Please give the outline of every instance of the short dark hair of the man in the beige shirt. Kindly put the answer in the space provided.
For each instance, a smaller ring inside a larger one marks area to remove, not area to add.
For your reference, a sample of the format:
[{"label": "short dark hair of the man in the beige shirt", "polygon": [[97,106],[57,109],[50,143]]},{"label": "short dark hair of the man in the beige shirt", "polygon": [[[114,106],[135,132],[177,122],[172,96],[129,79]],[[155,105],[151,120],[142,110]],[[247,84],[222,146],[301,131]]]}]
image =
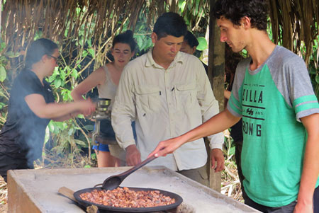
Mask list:
[{"label": "short dark hair of the man in the beige shirt", "polygon": [[154,33],[157,35],[157,40],[172,35],[174,37],[185,36],[187,32],[187,25],[184,18],[177,13],[163,13],[162,16],[157,18],[154,25]]}]

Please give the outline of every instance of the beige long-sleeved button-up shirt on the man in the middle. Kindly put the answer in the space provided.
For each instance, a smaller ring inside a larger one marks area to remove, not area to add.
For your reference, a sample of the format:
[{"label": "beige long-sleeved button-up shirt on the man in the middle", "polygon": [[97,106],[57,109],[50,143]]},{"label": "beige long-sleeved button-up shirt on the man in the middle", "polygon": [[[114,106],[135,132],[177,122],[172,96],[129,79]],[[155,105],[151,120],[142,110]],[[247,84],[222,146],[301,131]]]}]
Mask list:
[{"label": "beige long-sleeved button-up shirt on the man in the middle", "polygon": [[[135,120],[137,147],[141,159],[158,142],[177,137],[219,113],[201,61],[178,52],[168,69],[156,64],[152,50],[129,62],[123,70],[112,109],[112,126],[118,144],[125,149],[135,144],[131,121]],[[208,137],[211,149],[223,146],[223,133]],[[174,171],[205,165],[207,152],[203,139],[183,144],[150,165]]]}]

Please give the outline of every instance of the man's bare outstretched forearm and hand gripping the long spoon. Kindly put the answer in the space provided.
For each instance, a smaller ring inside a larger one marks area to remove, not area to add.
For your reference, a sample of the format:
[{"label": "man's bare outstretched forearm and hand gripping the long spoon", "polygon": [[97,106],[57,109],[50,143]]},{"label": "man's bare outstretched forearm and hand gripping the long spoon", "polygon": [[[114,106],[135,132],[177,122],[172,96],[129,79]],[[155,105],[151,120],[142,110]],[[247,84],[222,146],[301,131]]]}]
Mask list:
[{"label": "man's bare outstretched forearm and hand gripping the long spoon", "polygon": [[186,142],[192,142],[201,137],[206,137],[211,134],[223,132],[225,129],[235,125],[240,120],[240,117],[235,117],[227,109],[217,115],[211,117],[202,125],[192,129],[179,137],[174,137],[166,141],[159,142],[157,147],[149,156],[166,156],[175,151],[179,146]]}]

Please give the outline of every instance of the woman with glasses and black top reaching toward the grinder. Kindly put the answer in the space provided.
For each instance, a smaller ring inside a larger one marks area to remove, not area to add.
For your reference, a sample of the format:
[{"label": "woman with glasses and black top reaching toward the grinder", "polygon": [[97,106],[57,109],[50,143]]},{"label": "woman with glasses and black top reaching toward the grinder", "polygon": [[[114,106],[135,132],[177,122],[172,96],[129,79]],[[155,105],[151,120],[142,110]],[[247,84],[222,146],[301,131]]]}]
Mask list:
[{"label": "woman with glasses and black top reaching toward the grinder", "polygon": [[55,103],[45,81],[57,67],[57,44],[41,38],[31,43],[26,67],[13,82],[8,117],[0,132],[0,175],[6,181],[9,169],[33,168],[42,154],[45,128],[50,120],[62,121],[95,110],[91,100]]}]

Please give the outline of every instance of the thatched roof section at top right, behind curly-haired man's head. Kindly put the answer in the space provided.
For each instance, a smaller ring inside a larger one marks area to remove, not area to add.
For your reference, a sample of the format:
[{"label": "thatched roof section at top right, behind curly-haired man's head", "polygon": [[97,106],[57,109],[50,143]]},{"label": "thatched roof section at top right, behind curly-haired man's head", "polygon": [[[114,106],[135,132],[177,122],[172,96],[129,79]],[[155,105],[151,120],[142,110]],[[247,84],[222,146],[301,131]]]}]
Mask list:
[{"label": "thatched roof section at top right, behind curly-haired man's head", "polygon": [[284,47],[305,54],[308,63],[313,42],[318,40],[319,0],[269,0],[269,3],[274,41],[282,40]]}]

